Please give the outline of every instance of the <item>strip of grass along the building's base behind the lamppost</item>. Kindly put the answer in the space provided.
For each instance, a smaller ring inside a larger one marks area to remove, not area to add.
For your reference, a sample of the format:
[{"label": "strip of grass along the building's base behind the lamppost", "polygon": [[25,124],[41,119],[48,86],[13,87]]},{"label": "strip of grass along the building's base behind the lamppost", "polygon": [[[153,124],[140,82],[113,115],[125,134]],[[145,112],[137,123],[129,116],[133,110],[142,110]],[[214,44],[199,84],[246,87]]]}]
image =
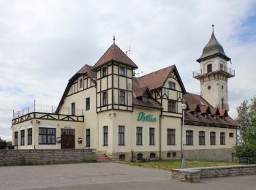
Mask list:
[{"label": "strip of grass along the building's base behind the lamppost", "polygon": [[[131,164],[134,166],[140,167],[154,167],[163,170],[172,170],[181,168],[181,160],[165,160],[165,161],[121,161],[124,164]],[[238,165],[236,162],[225,162],[225,161],[209,161],[209,160],[200,160],[200,159],[188,159],[186,161],[187,167],[214,167],[214,166],[228,166],[228,165]]]}]

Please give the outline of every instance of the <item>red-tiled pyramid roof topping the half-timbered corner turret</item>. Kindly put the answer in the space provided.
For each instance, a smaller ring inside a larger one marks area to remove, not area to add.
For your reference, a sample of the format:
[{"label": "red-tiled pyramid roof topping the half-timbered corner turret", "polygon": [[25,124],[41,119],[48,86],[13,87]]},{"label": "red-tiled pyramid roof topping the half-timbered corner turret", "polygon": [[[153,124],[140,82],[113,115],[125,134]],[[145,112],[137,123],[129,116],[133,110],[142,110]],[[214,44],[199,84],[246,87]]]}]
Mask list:
[{"label": "red-tiled pyramid roof topping the half-timbered corner turret", "polygon": [[106,64],[110,61],[116,61],[121,64],[131,66],[133,69],[137,69],[138,66],[130,59],[115,43],[111,45],[108,50],[103,54],[99,61],[94,64],[93,69],[97,69],[99,66]]}]

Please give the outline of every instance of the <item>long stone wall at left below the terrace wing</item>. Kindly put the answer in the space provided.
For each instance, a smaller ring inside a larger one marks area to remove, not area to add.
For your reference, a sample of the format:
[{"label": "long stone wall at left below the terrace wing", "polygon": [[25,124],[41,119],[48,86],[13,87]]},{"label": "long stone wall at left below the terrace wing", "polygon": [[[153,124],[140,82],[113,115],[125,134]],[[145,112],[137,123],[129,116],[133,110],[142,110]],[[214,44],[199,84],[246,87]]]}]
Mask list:
[{"label": "long stone wall at left below the terrace wing", "polygon": [[0,165],[60,164],[94,161],[88,149],[61,150],[1,150]]}]

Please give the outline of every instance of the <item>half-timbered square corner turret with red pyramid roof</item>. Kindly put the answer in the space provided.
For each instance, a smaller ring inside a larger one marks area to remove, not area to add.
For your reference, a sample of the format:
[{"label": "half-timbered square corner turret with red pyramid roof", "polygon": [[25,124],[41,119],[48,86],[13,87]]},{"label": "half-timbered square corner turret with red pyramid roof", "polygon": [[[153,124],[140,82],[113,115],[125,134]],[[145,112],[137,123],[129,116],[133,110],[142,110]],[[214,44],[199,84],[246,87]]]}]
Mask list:
[{"label": "half-timbered square corner turret with red pyramid roof", "polygon": [[97,112],[132,111],[132,71],[137,68],[114,41],[93,67],[97,81]]}]

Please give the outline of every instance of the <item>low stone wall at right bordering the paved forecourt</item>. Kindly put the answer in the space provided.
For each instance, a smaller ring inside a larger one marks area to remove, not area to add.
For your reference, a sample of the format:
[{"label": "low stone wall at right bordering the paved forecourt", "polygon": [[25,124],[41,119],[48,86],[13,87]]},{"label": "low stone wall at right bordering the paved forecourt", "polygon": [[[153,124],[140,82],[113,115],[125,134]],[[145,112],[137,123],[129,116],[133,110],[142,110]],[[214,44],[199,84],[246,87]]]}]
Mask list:
[{"label": "low stone wall at right bordering the paved forecourt", "polygon": [[217,178],[236,175],[256,175],[256,164],[176,169],[172,170],[171,178],[187,182],[198,182],[202,178]]}]

